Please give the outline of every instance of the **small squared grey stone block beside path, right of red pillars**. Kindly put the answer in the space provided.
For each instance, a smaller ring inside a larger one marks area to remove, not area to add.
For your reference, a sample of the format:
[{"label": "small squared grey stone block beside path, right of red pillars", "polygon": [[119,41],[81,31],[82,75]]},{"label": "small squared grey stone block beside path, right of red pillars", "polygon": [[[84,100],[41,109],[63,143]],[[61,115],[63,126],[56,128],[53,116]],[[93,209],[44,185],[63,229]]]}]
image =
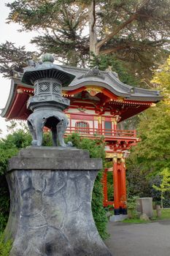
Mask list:
[{"label": "small squared grey stone block beside path, right of red pillars", "polygon": [[137,199],[137,211],[146,214],[147,217],[153,217],[152,197],[141,197]]}]

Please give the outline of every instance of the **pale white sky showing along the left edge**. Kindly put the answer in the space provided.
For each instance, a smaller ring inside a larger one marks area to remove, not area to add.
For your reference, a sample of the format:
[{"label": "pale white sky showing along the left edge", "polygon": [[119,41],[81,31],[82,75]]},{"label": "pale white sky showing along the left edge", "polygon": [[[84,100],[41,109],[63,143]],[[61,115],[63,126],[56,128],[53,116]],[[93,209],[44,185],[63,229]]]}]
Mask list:
[{"label": "pale white sky showing along the left edge", "polygon": [[[20,26],[15,23],[6,23],[6,19],[9,14],[9,8],[5,7],[5,4],[8,2],[12,2],[14,0],[0,0],[0,44],[2,42],[15,42],[16,46],[26,46],[26,50],[36,50],[35,46],[30,44],[31,38],[35,35],[33,32],[18,32],[18,29],[20,29]],[[7,99],[9,96],[9,89],[10,89],[10,79],[2,78],[2,75],[0,74],[0,86],[1,86],[1,93],[0,93],[0,109],[4,108]],[[1,111],[0,111],[1,113]],[[1,137],[4,137],[7,135],[7,127],[8,124],[7,121],[4,120],[4,118],[0,117],[0,129],[2,130]]]}]

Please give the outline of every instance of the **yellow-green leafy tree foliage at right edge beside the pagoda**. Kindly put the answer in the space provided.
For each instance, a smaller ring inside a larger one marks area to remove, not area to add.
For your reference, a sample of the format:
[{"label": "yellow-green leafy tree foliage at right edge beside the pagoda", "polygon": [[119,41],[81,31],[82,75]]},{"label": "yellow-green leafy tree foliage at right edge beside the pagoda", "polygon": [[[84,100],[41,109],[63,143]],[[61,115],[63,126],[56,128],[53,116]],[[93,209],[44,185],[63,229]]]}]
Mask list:
[{"label": "yellow-green leafy tree foliage at right edge beside the pagoda", "polygon": [[128,159],[129,170],[142,172],[147,177],[157,175],[165,168],[170,169],[170,58],[155,73],[152,82],[164,91],[165,97],[155,108],[142,113],[138,127],[142,142]]}]

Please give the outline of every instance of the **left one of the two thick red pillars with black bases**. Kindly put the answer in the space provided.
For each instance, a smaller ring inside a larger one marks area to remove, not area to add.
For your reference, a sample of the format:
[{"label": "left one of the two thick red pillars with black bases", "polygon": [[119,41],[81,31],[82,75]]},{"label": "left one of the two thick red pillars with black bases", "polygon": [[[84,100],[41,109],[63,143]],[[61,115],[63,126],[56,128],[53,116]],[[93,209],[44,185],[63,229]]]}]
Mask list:
[{"label": "left one of the two thick red pillars with black bases", "polygon": [[117,173],[117,155],[113,158],[113,184],[114,184],[114,211],[115,215],[120,214],[119,210],[119,187],[118,187],[118,173]]}]

